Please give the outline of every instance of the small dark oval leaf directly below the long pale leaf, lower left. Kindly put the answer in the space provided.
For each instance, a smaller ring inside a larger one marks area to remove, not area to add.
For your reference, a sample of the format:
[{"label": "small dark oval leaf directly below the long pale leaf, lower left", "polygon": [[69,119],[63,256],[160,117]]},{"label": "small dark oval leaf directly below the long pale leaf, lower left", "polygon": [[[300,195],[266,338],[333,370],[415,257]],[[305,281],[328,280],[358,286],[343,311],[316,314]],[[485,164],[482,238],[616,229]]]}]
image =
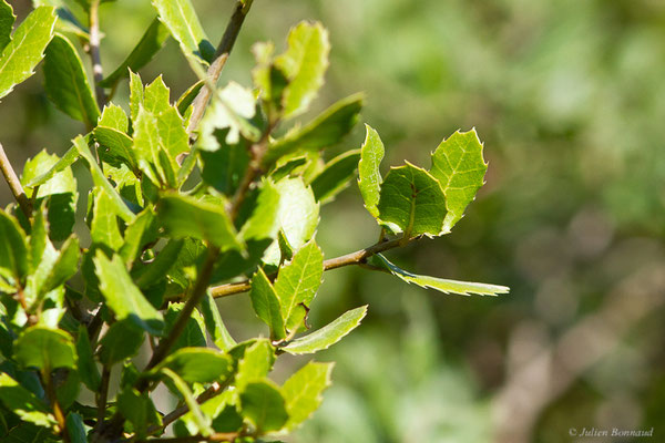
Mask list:
[{"label": "small dark oval leaf directly below the long pale leaf, lower left", "polygon": [[144,340],[143,330],[132,319],[120,320],[111,324],[100,341],[100,361],[106,367],[129,359],[139,353]]}]

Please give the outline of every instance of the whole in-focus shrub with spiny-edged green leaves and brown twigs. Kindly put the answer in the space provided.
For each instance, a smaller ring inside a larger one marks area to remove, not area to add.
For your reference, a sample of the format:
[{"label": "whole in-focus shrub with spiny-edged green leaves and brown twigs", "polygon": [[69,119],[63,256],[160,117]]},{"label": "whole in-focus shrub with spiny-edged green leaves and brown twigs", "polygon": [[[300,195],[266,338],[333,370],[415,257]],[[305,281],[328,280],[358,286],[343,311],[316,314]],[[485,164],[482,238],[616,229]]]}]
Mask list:
[{"label": "whole in-focus shrub with spiny-edged green leaves and brown twigs", "polygon": [[[173,422],[176,436],[201,440],[287,433],[320,404],[332,363],[309,361],[278,385],[269,378],[275,360],[327,349],[367,313],[364,306],[309,326],[325,270],[364,265],[442,292],[507,290],[413,275],[379,254],[450,231],[483,183],[482,145],[474,131],[458,132],[434,151],[429,171],[407,163],[381,178],[385,150],[367,126],[360,148],[328,159],[325,150],[351,131],[364,97],[294,123],[328,68],[321,23],[294,27],[279,54],[273,43],[257,43],[252,87],[217,89],[204,70],[221,59],[190,0],[153,0],[155,21],[127,59],[95,82],[74,44],[92,44],[91,30],[66,2],[54,3],[35,4],[12,33],[11,7],[0,0],[0,97],[43,59],[50,100],[85,127],[63,155],[43,151],[25,164],[29,216],[13,205],[0,210],[3,441],[135,441]],[[99,7],[78,3],[91,17]],[[236,12],[250,6],[239,1]],[[137,73],[168,38],[202,76],[177,99],[161,76],[144,82]],[[129,103],[100,109],[108,99],[95,96],[100,89],[112,95],[125,79]],[[197,106],[206,105],[195,97],[206,90],[212,101],[192,128]],[[94,184],[85,195],[75,163]],[[325,260],[316,243],[320,206],[357,174],[381,240]],[[79,198],[85,214],[76,213]],[[90,240],[80,239],[76,220],[85,222]],[[267,337],[238,343],[214,296],[242,291]],[[146,365],[136,359],[142,349],[151,354]],[[110,389],[112,372],[120,382]],[[170,413],[152,395],[160,384],[178,399]],[[94,405],[80,402],[83,387],[96,393]]]}]

